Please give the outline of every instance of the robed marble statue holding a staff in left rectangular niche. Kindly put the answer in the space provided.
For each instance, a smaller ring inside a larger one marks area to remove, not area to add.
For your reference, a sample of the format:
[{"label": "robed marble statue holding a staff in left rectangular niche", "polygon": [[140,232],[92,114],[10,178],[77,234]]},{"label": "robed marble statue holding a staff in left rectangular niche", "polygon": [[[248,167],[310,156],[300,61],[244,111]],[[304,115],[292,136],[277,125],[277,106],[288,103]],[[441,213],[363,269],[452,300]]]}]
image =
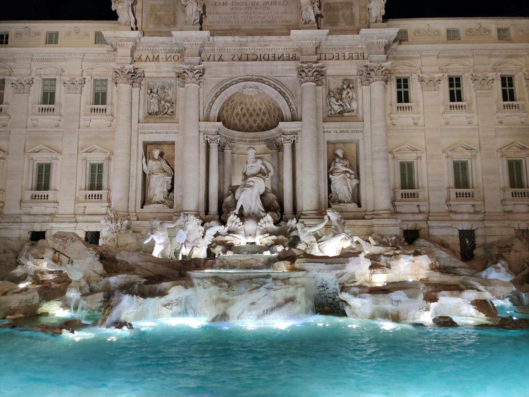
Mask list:
[{"label": "robed marble statue holding a staff in left rectangular niche", "polygon": [[160,152],[160,149],[154,149],[152,151],[154,158],[149,159],[148,163],[145,161],[145,156],[142,159],[143,172],[149,178],[145,204],[165,204],[172,208],[173,202],[169,197],[169,189],[174,173],[167,161],[160,157]]}]

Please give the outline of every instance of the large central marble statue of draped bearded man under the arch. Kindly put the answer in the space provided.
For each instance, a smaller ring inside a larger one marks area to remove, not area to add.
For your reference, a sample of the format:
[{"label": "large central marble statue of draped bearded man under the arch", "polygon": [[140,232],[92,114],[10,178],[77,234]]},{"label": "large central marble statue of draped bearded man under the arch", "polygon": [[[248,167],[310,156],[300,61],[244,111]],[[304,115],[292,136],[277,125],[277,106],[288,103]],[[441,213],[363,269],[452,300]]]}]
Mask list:
[{"label": "large central marble statue of draped bearded man under the arch", "polygon": [[261,194],[265,192],[265,181],[273,174],[273,168],[270,161],[256,157],[256,149],[248,148],[248,160],[242,168],[242,182],[235,192],[237,204],[232,211],[239,214],[242,207],[242,213],[245,218],[261,219],[267,214]]}]

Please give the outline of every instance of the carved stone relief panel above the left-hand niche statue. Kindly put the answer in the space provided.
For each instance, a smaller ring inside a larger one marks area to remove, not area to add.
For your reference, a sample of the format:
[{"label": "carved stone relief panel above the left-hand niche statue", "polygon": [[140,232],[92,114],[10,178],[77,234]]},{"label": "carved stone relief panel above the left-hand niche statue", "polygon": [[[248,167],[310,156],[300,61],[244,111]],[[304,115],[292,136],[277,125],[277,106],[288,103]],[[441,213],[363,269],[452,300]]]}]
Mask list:
[{"label": "carved stone relief panel above the left-hand niche statue", "polygon": [[145,84],[144,117],[174,118],[176,83],[174,80],[148,80]]}]

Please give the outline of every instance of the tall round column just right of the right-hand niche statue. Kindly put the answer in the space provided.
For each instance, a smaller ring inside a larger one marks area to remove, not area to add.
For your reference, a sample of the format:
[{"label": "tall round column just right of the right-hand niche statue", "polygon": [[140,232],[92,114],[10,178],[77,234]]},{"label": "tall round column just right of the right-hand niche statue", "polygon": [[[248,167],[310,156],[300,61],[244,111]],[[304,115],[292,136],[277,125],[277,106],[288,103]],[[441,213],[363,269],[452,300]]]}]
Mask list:
[{"label": "tall round column just right of the right-hand niche statue", "polygon": [[364,70],[359,70],[359,74],[362,84],[369,83],[374,216],[384,218],[392,213],[386,125],[386,84],[389,79],[389,62],[367,64]]}]

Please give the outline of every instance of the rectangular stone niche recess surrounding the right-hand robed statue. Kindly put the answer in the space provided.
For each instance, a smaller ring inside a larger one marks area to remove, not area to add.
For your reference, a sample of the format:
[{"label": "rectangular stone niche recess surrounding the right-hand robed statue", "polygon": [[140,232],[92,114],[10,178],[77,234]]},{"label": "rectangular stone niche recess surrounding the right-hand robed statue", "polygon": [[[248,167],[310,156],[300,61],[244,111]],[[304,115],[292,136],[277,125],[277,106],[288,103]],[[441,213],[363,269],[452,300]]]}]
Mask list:
[{"label": "rectangular stone niche recess surrounding the right-hand robed statue", "polygon": [[329,203],[329,207],[332,209],[335,209],[336,211],[339,211],[340,213],[346,213],[346,212],[355,212],[359,211],[361,207],[360,203],[360,183],[358,183],[354,188],[352,192],[352,203],[331,203],[329,200],[329,194],[331,193],[331,181],[329,179],[329,167],[331,166],[333,160],[334,160],[334,151],[338,148],[343,149],[343,158],[349,160],[349,163],[351,163],[351,167],[354,170],[355,178],[360,179],[362,181],[362,175],[359,175],[358,172],[358,142],[327,142],[327,169],[325,172],[325,175],[327,176],[327,202]]}]

